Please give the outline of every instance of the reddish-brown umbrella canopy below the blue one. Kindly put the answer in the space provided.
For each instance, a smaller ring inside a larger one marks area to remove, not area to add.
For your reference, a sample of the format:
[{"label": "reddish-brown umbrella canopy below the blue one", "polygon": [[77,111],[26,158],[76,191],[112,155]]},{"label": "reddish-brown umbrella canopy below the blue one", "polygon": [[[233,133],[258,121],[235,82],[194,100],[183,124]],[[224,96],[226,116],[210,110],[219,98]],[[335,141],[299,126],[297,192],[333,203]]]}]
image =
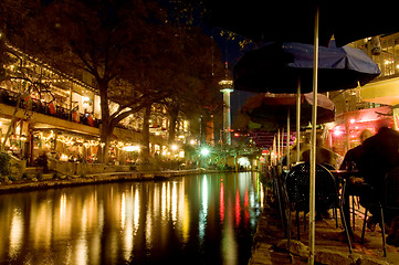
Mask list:
[{"label": "reddish-brown umbrella canopy below the blue one", "polygon": [[[307,126],[312,118],[313,94],[301,95],[301,125]],[[262,93],[250,97],[241,113],[248,115],[253,123],[261,124],[262,129],[275,131],[287,125],[287,113],[296,112],[295,94],[270,94]],[[334,103],[325,95],[317,96],[317,124],[334,121]],[[291,119],[294,121],[293,119]],[[291,125],[293,125],[292,123]]]}]

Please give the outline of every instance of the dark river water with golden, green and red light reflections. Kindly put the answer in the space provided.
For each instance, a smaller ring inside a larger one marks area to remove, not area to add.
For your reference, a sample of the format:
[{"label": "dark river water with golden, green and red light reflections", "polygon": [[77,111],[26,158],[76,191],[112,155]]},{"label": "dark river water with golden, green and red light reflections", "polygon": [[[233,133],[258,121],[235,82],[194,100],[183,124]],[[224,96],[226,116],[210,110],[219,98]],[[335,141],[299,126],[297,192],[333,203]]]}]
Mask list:
[{"label": "dark river water with golden, green and red light reflections", "polygon": [[0,195],[0,264],[248,264],[255,173]]}]

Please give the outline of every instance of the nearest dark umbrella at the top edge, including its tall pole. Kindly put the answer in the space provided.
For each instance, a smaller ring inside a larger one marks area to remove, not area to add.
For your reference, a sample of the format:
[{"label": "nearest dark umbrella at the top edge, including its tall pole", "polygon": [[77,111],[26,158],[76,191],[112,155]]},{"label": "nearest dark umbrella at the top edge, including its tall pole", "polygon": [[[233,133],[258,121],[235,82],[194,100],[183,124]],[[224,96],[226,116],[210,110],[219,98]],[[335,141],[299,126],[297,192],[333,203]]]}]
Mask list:
[{"label": "nearest dark umbrella at the top edge, including its tall pole", "polygon": [[[387,7],[395,1],[385,2]],[[399,31],[395,9],[377,10],[374,4],[357,1],[260,1],[232,2],[206,0],[211,24],[223,26],[239,34],[258,40],[297,41],[314,44],[313,94],[317,100],[318,43],[327,45],[334,34],[338,44],[361,38]],[[321,15],[322,20],[321,20]],[[348,21],[350,21],[348,23]],[[219,24],[218,24],[219,22]],[[322,33],[318,28],[322,25]],[[254,36],[251,36],[254,35]],[[313,38],[312,38],[313,35]],[[313,125],[316,123],[316,104],[313,105]],[[311,191],[309,191],[309,264],[314,264],[315,250],[315,177],[316,128],[311,137]]]}]

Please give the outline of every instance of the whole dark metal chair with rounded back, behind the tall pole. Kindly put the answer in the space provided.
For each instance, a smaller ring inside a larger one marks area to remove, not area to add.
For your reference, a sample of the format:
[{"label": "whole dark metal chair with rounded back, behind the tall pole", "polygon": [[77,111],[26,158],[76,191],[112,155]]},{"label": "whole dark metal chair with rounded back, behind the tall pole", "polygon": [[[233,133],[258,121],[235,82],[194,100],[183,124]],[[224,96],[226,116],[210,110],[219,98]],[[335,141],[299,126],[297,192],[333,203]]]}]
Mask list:
[{"label": "whole dark metal chair with rounded back, behind the tall pole", "polygon": [[[309,176],[311,165],[300,163],[291,169],[285,179],[285,194],[288,202],[287,237],[288,250],[291,244],[292,211],[296,213],[297,240],[300,236],[300,212],[304,212],[304,229],[306,213],[309,206]],[[322,165],[316,166],[316,210],[339,209],[342,222],[347,236],[348,248],[351,253],[351,244],[344,218],[343,204],[339,199],[334,176]],[[337,218],[336,218],[337,221]]]}]

